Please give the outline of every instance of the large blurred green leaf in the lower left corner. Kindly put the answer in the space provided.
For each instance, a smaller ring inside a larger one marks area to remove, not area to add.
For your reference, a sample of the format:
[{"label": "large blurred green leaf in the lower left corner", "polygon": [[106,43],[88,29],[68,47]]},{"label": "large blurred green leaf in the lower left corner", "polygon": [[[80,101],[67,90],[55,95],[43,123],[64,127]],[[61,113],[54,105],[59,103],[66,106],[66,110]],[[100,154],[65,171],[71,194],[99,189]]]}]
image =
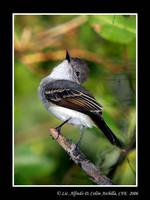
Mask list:
[{"label": "large blurred green leaf in the lower left corner", "polygon": [[37,156],[32,152],[22,152],[15,155],[16,184],[36,184],[40,179],[54,173],[56,162],[54,159]]}]

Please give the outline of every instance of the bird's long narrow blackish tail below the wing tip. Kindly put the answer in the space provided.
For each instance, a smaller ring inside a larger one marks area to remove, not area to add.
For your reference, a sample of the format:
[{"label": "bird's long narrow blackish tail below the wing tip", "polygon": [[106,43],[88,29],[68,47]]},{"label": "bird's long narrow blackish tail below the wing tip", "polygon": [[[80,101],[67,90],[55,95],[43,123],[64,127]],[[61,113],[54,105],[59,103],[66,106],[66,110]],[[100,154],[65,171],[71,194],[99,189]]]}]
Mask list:
[{"label": "bird's long narrow blackish tail below the wing tip", "polygon": [[98,128],[104,133],[104,135],[108,138],[111,144],[118,146],[119,148],[123,148],[123,143],[115,136],[112,130],[108,127],[103,117],[97,113],[92,114],[91,119],[95,122]]}]

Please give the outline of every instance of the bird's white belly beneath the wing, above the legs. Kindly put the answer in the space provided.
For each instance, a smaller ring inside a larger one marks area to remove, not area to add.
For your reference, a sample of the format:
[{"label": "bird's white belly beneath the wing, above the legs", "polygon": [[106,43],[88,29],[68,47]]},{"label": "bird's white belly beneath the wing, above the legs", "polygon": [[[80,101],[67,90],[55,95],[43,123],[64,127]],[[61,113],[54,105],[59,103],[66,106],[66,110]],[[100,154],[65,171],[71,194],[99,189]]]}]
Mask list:
[{"label": "bird's white belly beneath the wing, above the legs", "polygon": [[68,123],[76,126],[84,126],[91,128],[93,126],[93,121],[88,115],[74,111],[68,108],[60,107],[54,104],[51,104],[48,110],[53,113],[58,119],[65,121],[71,118]]}]

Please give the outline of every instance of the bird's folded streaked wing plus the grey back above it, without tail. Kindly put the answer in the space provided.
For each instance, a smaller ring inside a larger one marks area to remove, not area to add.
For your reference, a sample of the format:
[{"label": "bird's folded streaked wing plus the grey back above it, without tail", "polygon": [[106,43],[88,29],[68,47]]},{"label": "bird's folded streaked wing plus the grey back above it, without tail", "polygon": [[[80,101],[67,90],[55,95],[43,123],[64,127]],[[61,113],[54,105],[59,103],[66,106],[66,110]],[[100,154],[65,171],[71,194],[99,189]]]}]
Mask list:
[{"label": "bird's folded streaked wing plus the grey back above it, without tail", "polygon": [[96,102],[95,98],[83,87],[73,82],[58,84],[57,81],[56,84],[49,84],[45,87],[44,95],[49,102],[85,114],[102,112],[102,106]]}]

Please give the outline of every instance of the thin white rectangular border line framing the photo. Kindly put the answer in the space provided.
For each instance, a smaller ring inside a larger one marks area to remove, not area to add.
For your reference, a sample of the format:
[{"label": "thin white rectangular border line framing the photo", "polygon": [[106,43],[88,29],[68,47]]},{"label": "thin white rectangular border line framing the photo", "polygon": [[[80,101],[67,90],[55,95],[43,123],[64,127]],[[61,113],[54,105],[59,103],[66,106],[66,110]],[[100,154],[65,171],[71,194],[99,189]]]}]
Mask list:
[{"label": "thin white rectangular border line framing the photo", "polygon": [[[135,15],[136,16],[136,185],[15,185],[14,184],[14,16],[15,15]],[[137,13],[13,13],[12,14],[12,61],[13,61],[13,74],[12,74],[12,89],[13,89],[13,131],[12,131],[12,186],[13,187],[137,187],[138,186],[138,126],[137,126],[137,113],[138,113],[138,14]]]}]

